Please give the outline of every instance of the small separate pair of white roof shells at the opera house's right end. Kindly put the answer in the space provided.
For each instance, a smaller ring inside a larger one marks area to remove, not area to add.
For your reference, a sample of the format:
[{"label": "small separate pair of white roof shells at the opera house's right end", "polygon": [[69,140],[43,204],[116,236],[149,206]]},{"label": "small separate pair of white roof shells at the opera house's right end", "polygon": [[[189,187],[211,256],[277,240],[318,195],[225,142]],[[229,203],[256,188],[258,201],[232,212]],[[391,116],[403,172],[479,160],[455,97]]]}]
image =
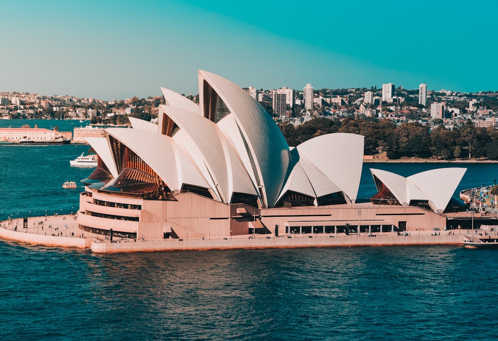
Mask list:
[{"label": "small separate pair of white roof shells at the opera house's right end", "polygon": [[431,169],[405,178],[384,170],[370,169],[373,177],[383,183],[400,204],[427,200],[437,212],[446,209],[466,170],[456,167]]}]

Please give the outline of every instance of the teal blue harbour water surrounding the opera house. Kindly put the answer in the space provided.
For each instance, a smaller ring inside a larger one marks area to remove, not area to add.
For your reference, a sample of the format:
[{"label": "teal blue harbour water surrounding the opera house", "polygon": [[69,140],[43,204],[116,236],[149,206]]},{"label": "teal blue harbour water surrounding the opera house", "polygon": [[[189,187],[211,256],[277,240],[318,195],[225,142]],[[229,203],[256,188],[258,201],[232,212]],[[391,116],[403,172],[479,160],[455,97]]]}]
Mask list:
[{"label": "teal blue harbour water surrounding the opera house", "polygon": [[[82,189],[61,186],[90,174],[69,166],[88,148],[0,145],[0,219],[74,211]],[[359,197],[375,193],[368,168],[439,166],[366,164]],[[458,191],[498,174],[464,166]],[[459,246],[97,255],[1,241],[0,340],[496,340],[497,258]]]}]

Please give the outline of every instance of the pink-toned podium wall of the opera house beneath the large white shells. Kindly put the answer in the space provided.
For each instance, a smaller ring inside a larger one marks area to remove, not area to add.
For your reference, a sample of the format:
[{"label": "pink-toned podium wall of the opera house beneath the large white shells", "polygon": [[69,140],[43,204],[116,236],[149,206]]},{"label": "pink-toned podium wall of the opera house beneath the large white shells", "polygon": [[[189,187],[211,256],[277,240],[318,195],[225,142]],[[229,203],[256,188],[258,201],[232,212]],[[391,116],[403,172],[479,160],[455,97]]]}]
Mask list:
[{"label": "pink-toned podium wall of the opera house beneath the large white shells", "polygon": [[[92,199],[141,205],[142,210],[105,207],[92,204]],[[103,219],[85,214],[85,211],[116,216],[139,216],[139,222]],[[102,229],[136,232],[137,238],[143,234],[145,239],[163,239],[164,232],[172,228],[182,239],[227,237],[249,233],[254,216],[272,233],[275,225],[279,234],[285,234],[289,222],[331,222],[344,226],[344,222],[355,227],[370,221],[372,225],[394,225],[406,222],[407,231],[444,230],[446,217],[427,210],[410,206],[377,206],[373,204],[333,205],[327,207],[254,209],[246,205],[226,205],[193,193],[180,193],[175,201],[147,201],[134,198],[109,196],[93,193],[93,198],[80,196],[78,223]],[[375,224],[374,224],[375,223]],[[378,223],[378,224],[377,224]],[[320,223],[317,223],[320,225]],[[323,225],[323,224],[322,224]]]}]

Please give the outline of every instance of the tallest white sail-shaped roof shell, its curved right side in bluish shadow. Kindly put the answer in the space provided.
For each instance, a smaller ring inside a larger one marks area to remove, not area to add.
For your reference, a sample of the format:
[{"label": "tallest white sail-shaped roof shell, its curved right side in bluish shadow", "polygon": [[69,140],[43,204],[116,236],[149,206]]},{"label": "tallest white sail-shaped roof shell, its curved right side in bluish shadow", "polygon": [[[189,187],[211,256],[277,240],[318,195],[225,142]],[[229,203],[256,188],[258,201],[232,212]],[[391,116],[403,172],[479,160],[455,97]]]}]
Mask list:
[{"label": "tallest white sail-shaped roof shell, its curved right side in bluish shadow", "polygon": [[[245,148],[237,149],[237,152],[248,154],[247,157],[241,156],[241,160],[246,169],[255,173],[254,187],[261,187],[265,206],[273,206],[289,168],[290,151],[285,138],[270,115],[242,88],[218,75],[199,70],[201,108],[208,109],[205,108],[208,99],[204,97],[207,85],[216,92],[234,116],[245,144]],[[231,139],[230,132],[225,131],[224,126],[220,128]],[[250,164],[245,162],[248,158],[252,160]]]}]

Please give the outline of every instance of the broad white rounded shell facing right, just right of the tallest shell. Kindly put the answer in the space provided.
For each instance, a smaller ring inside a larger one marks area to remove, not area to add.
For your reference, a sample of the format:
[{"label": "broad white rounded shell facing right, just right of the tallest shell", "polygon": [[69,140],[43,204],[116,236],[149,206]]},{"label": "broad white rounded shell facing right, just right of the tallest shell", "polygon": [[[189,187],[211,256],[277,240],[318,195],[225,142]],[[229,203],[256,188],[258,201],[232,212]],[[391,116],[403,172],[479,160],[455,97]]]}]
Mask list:
[{"label": "broad white rounded shell facing right, just right of the tallest shell", "polygon": [[355,202],[362,176],[363,146],[362,135],[334,133],[314,137],[296,149],[300,157],[305,157]]}]

